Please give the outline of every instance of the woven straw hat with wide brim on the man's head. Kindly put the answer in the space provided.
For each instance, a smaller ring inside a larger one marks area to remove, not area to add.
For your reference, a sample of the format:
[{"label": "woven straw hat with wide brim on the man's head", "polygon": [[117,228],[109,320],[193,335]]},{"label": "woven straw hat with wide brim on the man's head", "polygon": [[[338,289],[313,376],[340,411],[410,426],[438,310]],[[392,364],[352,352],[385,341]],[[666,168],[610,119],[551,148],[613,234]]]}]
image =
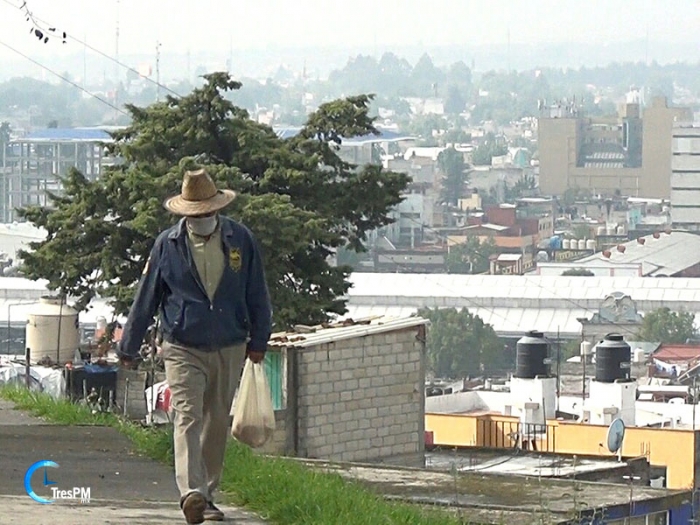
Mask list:
[{"label": "woven straw hat with wide brim on the man's head", "polygon": [[186,172],[180,195],[169,197],[163,205],[177,215],[191,217],[218,211],[234,198],[235,191],[217,189],[209,174],[200,169]]}]

